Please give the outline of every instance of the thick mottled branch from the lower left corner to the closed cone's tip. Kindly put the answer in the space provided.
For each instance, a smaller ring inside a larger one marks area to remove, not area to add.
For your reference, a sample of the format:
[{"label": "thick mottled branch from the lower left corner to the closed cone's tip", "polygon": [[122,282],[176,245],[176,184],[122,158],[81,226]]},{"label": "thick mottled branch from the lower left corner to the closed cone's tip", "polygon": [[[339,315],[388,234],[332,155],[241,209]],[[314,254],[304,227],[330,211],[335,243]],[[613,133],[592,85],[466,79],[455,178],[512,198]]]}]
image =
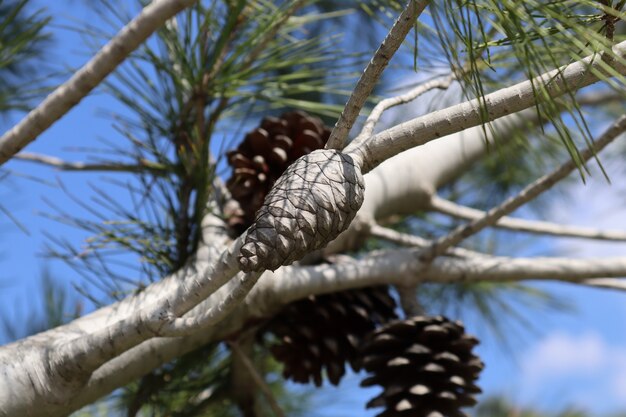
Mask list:
[{"label": "thick mottled branch from the lower left corner to the closed cone's tip", "polygon": [[[42,349],[37,342],[32,344],[33,341],[26,339],[22,347],[24,354],[32,352],[35,357],[29,359],[28,370],[16,376],[24,380],[0,378],[0,404],[7,404],[0,407],[0,416],[32,412],[27,401],[10,401],[17,393],[24,395],[23,390],[29,391],[29,396],[37,398],[39,403],[68,402],[84,389],[96,369],[160,335],[161,328],[189,310],[192,316],[200,314],[197,305],[238,272],[236,258],[240,246],[238,239],[226,250],[220,250],[223,246],[216,242],[212,262],[209,258],[208,263],[197,266],[192,263],[135,297],[75,320],[72,325],[46,332],[57,336],[52,348]],[[219,313],[226,310],[224,305],[221,307]],[[219,318],[224,316],[219,314]],[[8,375],[15,364],[3,352],[0,349],[0,374]],[[37,377],[38,384],[28,382],[41,372],[45,377]]]}]

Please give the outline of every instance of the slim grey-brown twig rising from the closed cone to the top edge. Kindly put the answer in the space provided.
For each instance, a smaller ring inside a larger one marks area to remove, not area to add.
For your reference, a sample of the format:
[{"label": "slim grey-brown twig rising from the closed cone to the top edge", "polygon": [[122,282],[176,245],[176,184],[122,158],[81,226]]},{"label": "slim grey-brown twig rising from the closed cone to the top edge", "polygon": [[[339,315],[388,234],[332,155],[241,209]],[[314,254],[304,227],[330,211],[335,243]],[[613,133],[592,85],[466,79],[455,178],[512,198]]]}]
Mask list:
[{"label": "slim grey-brown twig rising from the closed cone to the top edge", "polygon": [[335,124],[333,131],[326,143],[326,149],[343,149],[344,143],[354,125],[365,100],[370,96],[374,87],[378,83],[384,69],[389,64],[391,57],[396,53],[404,38],[413,27],[415,20],[422,13],[428,4],[428,0],[410,0],[406,8],[398,17],[393,27],[381,43],[380,47],[372,57],[365,71],[359,78],[354,91],[350,95],[339,120]]}]

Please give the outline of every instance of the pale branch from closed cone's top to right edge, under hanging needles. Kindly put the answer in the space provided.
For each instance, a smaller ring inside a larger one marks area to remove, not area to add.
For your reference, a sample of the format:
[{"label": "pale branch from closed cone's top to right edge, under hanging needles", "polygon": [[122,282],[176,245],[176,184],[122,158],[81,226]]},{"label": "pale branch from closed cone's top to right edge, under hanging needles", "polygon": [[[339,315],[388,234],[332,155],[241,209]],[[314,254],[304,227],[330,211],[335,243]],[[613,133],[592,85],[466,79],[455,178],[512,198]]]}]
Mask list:
[{"label": "pale branch from closed cone's top to right edge, under hanging needles", "polygon": [[369,172],[382,161],[402,151],[536,105],[539,85],[543,86],[550,97],[558,97],[599,81],[600,74],[610,76],[607,65],[626,75],[625,57],[626,41],[615,45],[614,59],[610,60],[610,64],[599,55],[591,55],[542,74],[532,81],[524,81],[487,94],[480,100],[470,100],[401,123],[360,145],[349,144],[344,152],[355,160],[362,161],[363,173]]}]

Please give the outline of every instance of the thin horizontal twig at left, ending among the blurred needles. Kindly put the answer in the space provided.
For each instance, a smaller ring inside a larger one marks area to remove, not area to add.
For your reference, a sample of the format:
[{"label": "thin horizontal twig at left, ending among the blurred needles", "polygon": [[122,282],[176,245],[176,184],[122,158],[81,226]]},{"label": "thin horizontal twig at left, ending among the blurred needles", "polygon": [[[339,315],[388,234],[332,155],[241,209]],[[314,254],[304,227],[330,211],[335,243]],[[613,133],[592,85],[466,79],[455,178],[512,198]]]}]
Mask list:
[{"label": "thin horizontal twig at left, ending among the blurred needles", "polygon": [[148,161],[147,159],[140,159],[134,164],[121,164],[116,162],[101,162],[101,163],[87,163],[87,162],[69,162],[55,156],[20,152],[14,156],[14,159],[24,162],[35,162],[38,164],[48,165],[63,171],[108,171],[108,172],[146,172],[154,171],[157,173],[165,174],[167,169],[164,165]]}]

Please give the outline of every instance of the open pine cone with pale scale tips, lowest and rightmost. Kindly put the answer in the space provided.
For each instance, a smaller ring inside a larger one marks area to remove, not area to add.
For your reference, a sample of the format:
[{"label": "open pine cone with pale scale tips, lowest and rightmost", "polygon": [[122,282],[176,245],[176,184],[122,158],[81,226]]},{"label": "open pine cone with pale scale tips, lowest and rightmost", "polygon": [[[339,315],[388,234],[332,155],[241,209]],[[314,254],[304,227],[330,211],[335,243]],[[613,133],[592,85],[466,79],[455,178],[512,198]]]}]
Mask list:
[{"label": "open pine cone with pale scale tips, lowest and rightmost", "polygon": [[478,340],[460,322],[438,317],[398,320],[374,331],[362,350],[373,375],[361,386],[384,391],[367,408],[386,407],[377,417],[466,417],[476,404],[474,384],[484,365],[472,353]]}]

